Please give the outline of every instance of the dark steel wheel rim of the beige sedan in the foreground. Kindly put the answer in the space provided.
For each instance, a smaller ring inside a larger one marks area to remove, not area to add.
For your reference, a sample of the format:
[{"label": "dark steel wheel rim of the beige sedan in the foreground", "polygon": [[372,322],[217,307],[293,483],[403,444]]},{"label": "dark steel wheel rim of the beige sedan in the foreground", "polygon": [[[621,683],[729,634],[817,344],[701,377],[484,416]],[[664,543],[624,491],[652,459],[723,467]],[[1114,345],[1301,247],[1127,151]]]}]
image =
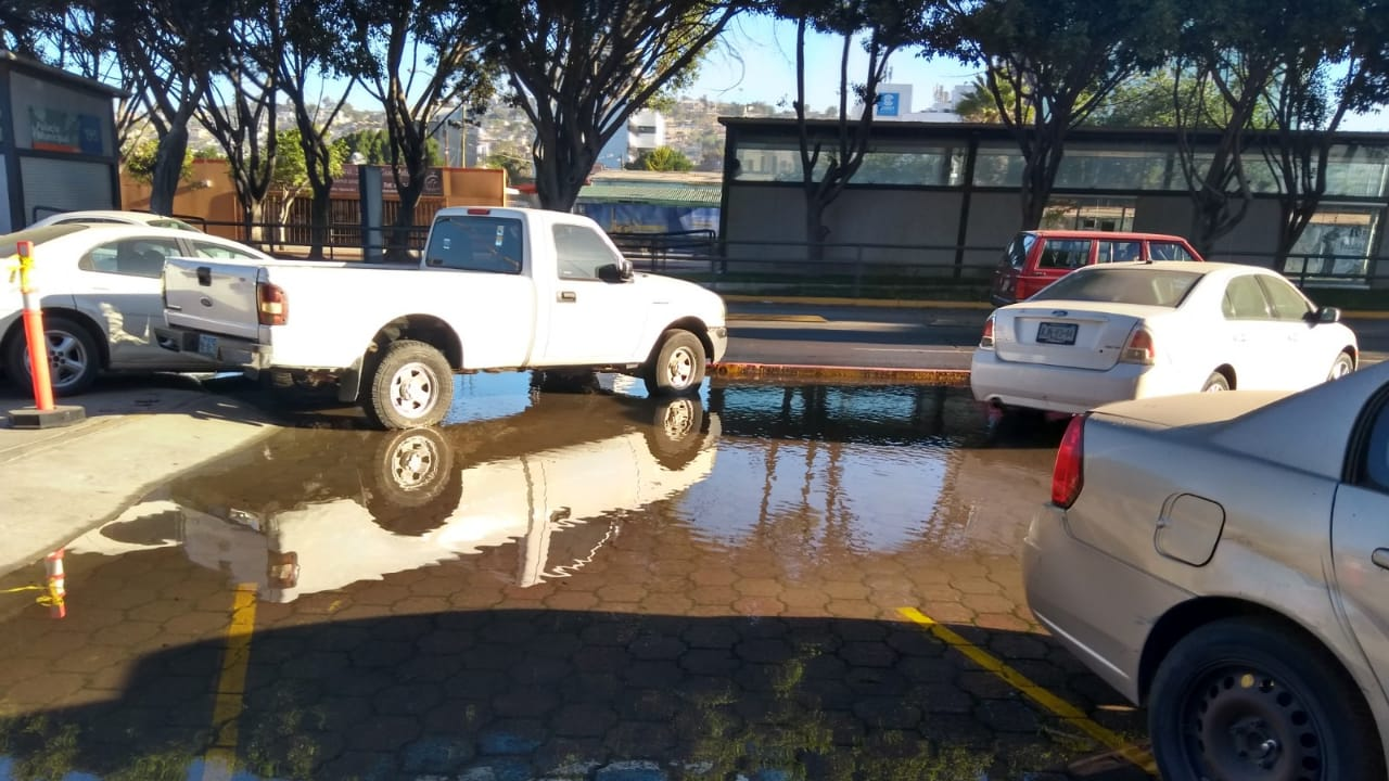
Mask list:
[{"label": "dark steel wheel rim of the beige sedan in the foreground", "polygon": [[1267,673],[1226,668],[1186,698],[1186,745],[1199,778],[1325,778],[1318,725],[1301,698]]}]

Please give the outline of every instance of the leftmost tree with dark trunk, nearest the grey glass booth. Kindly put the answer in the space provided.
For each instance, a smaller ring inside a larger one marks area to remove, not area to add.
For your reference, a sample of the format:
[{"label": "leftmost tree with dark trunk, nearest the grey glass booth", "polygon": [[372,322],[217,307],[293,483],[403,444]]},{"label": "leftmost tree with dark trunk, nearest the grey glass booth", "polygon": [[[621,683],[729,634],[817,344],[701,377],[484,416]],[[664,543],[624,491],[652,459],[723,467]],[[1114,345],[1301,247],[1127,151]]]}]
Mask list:
[{"label": "leftmost tree with dark trunk, nearest the grey glass booth", "polygon": [[139,94],[158,132],[150,181],[150,211],[174,211],[174,195],[188,153],[188,122],[207,79],[232,46],[232,4],[226,0],[89,0],[110,21],[108,44],[143,86]]}]

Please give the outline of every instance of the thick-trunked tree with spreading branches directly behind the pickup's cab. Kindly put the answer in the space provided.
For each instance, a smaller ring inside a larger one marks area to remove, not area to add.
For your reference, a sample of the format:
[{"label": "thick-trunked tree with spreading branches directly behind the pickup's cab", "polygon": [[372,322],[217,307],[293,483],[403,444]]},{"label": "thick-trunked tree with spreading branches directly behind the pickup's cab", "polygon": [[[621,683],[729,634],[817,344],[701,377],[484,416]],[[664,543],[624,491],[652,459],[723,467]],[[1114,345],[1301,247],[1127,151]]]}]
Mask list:
[{"label": "thick-trunked tree with spreading branches directly behind the pickup's cab", "polygon": [[722,0],[489,0],[489,53],[535,125],[544,208],[568,211],[603,146],[722,32]]}]

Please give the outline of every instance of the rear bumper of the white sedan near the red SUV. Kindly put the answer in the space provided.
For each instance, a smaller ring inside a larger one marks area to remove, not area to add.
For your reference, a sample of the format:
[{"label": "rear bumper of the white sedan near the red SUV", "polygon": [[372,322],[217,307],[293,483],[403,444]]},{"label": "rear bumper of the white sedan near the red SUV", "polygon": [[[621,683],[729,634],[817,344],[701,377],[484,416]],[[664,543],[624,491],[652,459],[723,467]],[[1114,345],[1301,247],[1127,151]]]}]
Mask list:
[{"label": "rear bumper of the white sedan near the red SUV", "polygon": [[1163,367],[1121,363],[1103,371],[1068,368],[1004,361],[983,349],[970,361],[970,388],[981,402],[1070,414],[1110,402],[1199,390],[1179,388]]}]

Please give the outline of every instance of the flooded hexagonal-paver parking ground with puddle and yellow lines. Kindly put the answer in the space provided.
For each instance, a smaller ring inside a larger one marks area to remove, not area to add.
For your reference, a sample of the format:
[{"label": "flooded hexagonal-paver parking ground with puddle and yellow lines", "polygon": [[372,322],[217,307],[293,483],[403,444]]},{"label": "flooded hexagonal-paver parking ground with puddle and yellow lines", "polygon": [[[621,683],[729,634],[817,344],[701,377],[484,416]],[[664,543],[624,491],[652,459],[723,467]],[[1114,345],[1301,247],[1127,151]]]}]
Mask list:
[{"label": "flooded hexagonal-paver parking ground with puddle and yellow lines", "polygon": [[299,413],[74,541],[61,607],[0,578],[0,780],[1149,777],[1024,605],[1060,422],[526,379]]}]

